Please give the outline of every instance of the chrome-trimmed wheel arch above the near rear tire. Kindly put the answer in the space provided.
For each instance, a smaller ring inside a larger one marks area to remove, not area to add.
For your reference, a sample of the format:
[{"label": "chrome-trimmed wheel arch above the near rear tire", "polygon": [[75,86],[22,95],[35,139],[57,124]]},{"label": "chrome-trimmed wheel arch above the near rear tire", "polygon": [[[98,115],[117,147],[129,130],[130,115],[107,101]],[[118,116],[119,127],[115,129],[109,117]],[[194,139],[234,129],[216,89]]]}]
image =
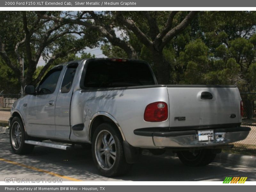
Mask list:
[{"label": "chrome-trimmed wheel arch above the near rear tire", "polygon": [[118,122],[116,121],[116,119],[110,115],[107,112],[98,112],[95,113],[89,123],[89,129],[88,129],[88,136],[89,136],[89,140],[92,141],[92,135],[95,131],[95,129],[102,123],[104,122],[110,122],[116,125],[116,128],[119,130],[123,140],[125,141],[125,137],[124,137],[124,133],[120,127],[120,125],[118,124]]}]

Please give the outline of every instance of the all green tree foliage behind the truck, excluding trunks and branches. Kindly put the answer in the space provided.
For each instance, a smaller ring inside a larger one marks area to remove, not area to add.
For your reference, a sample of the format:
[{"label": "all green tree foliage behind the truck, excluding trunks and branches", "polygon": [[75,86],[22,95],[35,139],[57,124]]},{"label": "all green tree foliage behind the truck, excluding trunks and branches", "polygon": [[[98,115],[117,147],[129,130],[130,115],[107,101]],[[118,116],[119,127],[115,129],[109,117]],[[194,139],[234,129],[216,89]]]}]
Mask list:
[{"label": "all green tree foliage behind the truck, excluding trunks and branches", "polygon": [[[61,14],[68,18],[72,17],[70,16],[71,13],[74,14],[74,12]],[[122,13],[124,17],[133,20],[136,26],[152,40],[152,31],[150,31],[145,12],[127,11]],[[156,21],[157,30],[159,30],[153,32],[158,33],[164,29],[169,13],[169,11],[149,12]],[[58,16],[60,12],[47,12],[47,14]],[[74,18],[79,17],[81,12],[76,14]],[[128,42],[136,51],[139,59],[147,61],[156,72],[156,65],[158,64],[155,60],[156,55],[152,54],[152,50],[142,44],[131,30],[116,22],[116,14],[117,12],[110,11],[97,12],[100,21],[105,25],[113,24],[116,33],[121,32],[120,39]],[[188,12],[178,12],[173,19],[172,26],[179,24],[187,14]],[[30,28],[36,19],[36,14],[35,12],[27,12],[27,17],[28,28]],[[0,36],[4,39],[6,49],[14,62],[16,60],[14,45],[24,38],[22,12],[2,12],[0,19],[3,21]],[[86,20],[86,22],[93,23],[92,20]],[[53,22],[49,22],[40,27],[33,36],[31,40],[33,55],[36,54],[36,49],[39,46],[37,42],[44,38],[44,32],[53,24]],[[42,56],[46,61],[58,52],[62,52],[64,55],[52,62],[52,66],[80,59],[75,55],[75,52],[67,54],[66,52],[72,47],[82,47],[83,45],[90,48],[101,46],[103,54],[107,57],[128,57],[123,49],[110,44],[99,31],[93,28],[68,24],[61,27],[58,33],[65,30],[80,31],[81,34],[66,34],[45,48]],[[14,36],[15,38],[13,38]],[[24,47],[19,51],[25,57],[26,75],[29,65],[27,52]],[[200,12],[182,33],[165,45],[162,54],[170,67],[172,83],[174,84],[236,84],[241,92],[253,92],[256,90],[256,12]],[[81,58],[88,57],[93,57],[93,55],[86,53],[81,55]],[[0,67],[1,72],[3,71],[1,74],[3,78],[11,76],[9,79],[14,81],[15,75],[11,69],[2,68],[2,65]],[[42,68],[35,69],[33,79],[39,75]],[[18,81],[16,83],[19,84]],[[17,85],[17,87],[19,86]]]}]

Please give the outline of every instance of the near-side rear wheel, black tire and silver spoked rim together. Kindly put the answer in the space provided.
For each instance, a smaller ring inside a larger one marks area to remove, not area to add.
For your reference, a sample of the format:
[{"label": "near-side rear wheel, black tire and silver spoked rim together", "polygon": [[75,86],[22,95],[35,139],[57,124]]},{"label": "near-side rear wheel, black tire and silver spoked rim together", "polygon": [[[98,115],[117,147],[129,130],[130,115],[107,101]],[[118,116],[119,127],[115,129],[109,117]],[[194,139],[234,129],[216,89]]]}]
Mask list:
[{"label": "near-side rear wheel, black tire and silver spoked rim together", "polygon": [[106,177],[123,175],[131,167],[125,160],[121,134],[110,123],[96,128],[92,137],[92,158],[100,174]]}]

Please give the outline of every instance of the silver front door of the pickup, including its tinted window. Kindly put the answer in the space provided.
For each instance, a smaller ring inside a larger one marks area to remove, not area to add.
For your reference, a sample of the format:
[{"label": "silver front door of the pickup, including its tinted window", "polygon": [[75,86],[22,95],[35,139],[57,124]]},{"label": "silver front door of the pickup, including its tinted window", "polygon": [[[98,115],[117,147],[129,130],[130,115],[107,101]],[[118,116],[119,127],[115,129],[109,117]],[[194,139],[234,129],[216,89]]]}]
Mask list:
[{"label": "silver front door of the pickup, including its tinted window", "polygon": [[51,69],[36,87],[27,104],[27,132],[31,136],[54,138],[55,104],[63,66]]}]

